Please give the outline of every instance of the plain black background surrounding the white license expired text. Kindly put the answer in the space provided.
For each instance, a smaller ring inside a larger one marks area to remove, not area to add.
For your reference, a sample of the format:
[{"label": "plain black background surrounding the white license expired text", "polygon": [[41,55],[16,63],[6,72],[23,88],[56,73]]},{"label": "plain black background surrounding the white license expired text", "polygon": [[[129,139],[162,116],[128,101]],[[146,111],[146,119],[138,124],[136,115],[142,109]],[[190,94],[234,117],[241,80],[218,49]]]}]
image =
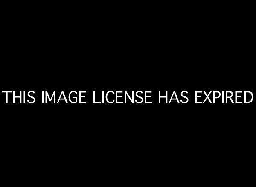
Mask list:
[{"label": "plain black background surrounding the white license expired text", "polygon": [[[154,104],[2,102],[5,176],[131,184],[250,178],[255,101],[196,105],[193,96],[255,94],[247,7],[42,7],[3,13],[1,91],[152,90]],[[157,104],[157,91],[183,90],[187,105]]]}]

